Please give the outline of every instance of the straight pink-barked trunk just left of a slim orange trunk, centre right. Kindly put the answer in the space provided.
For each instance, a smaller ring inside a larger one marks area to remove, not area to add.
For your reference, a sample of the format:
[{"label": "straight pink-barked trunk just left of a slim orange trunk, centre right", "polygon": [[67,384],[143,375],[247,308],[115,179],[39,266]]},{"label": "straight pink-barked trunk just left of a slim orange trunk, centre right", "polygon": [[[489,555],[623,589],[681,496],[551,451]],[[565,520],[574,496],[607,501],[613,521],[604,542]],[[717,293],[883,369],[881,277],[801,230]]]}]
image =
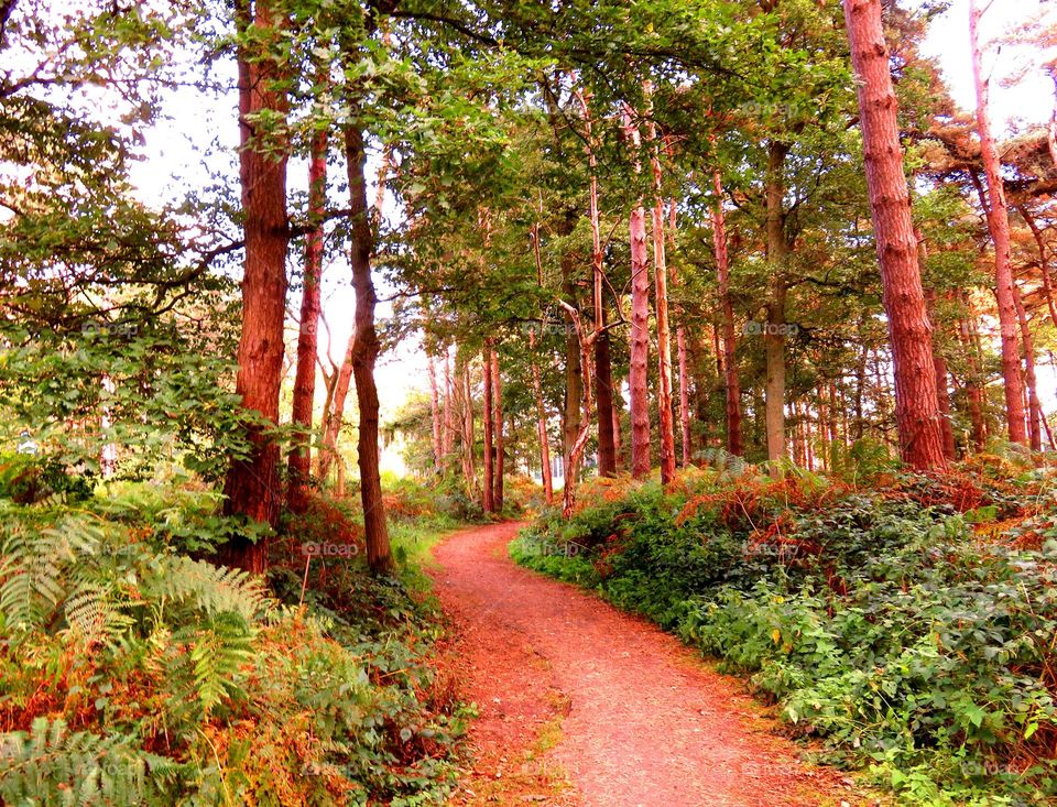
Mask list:
[{"label": "straight pink-barked trunk just left of a slim orange trunk, centre right", "polygon": [[[624,137],[638,154],[639,128],[630,109],[623,112]],[[631,476],[650,476],[650,262],[646,255],[646,212],[642,199],[631,211],[631,363],[628,382],[631,394]]]}]

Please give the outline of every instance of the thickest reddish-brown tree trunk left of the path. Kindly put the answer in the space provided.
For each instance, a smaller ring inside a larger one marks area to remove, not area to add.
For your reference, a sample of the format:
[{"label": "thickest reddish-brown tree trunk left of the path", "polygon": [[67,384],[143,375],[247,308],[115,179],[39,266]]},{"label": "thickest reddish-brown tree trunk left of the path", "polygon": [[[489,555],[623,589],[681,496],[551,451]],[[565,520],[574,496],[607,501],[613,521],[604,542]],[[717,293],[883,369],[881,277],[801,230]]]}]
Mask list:
[{"label": "thickest reddish-brown tree trunk left of the path", "polygon": [[[269,31],[282,25],[271,0],[238,0],[241,34],[251,26]],[[283,371],[283,320],[286,315],[286,154],[253,138],[252,116],[285,117],[286,98],[273,88],[280,67],[266,54],[241,44],[239,70],[239,179],[246,214],[246,263],[242,277],[242,334],[236,394],[246,410],[268,423],[279,422]],[[231,464],[225,480],[225,512],[275,525],[280,512],[279,445],[266,428],[249,430],[250,452]],[[233,538],[221,550],[222,563],[263,572],[268,544]]]}]

